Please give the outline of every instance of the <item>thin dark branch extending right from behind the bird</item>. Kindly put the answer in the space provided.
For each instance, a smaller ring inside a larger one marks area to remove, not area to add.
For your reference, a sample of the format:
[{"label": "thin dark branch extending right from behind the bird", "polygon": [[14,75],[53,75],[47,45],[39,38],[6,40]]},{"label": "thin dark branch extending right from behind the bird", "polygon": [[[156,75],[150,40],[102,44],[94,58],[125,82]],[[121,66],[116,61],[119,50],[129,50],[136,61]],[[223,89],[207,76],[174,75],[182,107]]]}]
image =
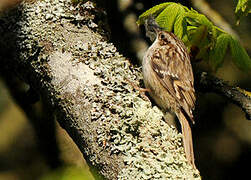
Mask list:
[{"label": "thin dark branch extending right from behind the bird", "polygon": [[228,85],[206,72],[196,74],[197,88],[203,92],[215,92],[227,97],[232,103],[238,105],[245,112],[247,119],[251,120],[251,93],[239,87]]}]

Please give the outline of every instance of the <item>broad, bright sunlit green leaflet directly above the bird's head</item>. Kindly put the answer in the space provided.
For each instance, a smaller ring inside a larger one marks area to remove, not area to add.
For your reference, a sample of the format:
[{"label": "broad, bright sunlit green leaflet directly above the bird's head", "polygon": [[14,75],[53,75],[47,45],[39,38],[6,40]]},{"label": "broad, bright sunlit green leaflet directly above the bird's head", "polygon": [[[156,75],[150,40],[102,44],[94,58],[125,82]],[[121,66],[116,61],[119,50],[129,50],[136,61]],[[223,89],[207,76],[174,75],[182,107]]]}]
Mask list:
[{"label": "broad, bright sunlit green leaflet directly above the bird's head", "polygon": [[[185,10],[180,4],[172,3],[167,6],[156,18],[156,22],[160,27],[165,28],[165,30],[171,32],[174,27],[174,23],[179,14],[184,13]],[[182,28],[182,27],[180,27]]]}]

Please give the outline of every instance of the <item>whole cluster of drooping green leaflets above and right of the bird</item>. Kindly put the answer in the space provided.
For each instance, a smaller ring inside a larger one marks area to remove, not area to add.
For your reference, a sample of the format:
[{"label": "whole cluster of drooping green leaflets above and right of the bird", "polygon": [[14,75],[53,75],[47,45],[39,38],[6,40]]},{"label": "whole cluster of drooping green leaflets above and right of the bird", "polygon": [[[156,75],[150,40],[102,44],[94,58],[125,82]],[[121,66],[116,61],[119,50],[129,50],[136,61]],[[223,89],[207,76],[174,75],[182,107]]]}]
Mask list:
[{"label": "whole cluster of drooping green leaflets above and right of the bird", "polygon": [[162,3],[141,14],[137,24],[144,24],[149,16],[154,16],[159,26],[182,39],[191,54],[197,49],[194,58],[208,61],[212,70],[223,64],[228,49],[237,67],[251,70],[251,59],[238,40],[194,9],[174,2]]}]

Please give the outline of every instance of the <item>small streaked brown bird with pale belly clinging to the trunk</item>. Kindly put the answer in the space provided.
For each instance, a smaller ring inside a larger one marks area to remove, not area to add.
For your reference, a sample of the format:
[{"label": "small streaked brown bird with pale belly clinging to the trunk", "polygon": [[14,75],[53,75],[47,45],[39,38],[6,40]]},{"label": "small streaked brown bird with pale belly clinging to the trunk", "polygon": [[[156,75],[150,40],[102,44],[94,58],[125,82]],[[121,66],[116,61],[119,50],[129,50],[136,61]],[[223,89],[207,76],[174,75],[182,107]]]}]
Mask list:
[{"label": "small streaked brown bird with pale belly clinging to the trunk", "polygon": [[155,38],[143,59],[143,76],[150,95],[164,111],[178,117],[187,160],[195,167],[192,123],[195,105],[194,78],[190,57],[185,45],[173,33],[162,30],[150,17],[145,23],[147,36]]}]

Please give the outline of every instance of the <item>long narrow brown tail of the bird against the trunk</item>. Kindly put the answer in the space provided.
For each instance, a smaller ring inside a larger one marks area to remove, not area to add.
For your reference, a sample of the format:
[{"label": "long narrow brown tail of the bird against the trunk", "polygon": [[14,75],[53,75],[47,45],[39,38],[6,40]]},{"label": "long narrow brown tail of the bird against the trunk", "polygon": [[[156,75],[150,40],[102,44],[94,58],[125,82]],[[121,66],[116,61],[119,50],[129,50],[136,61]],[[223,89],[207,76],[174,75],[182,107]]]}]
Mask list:
[{"label": "long narrow brown tail of the bird against the trunk", "polygon": [[181,124],[181,129],[182,129],[182,134],[183,134],[183,144],[184,144],[186,158],[191,163],[191,165],[194,168],[196,168],[195,163],[194,163],[193,139],[192,139],[192,131],[191,131],[190,125],[182,111],[179,111],[176,115]]}]

